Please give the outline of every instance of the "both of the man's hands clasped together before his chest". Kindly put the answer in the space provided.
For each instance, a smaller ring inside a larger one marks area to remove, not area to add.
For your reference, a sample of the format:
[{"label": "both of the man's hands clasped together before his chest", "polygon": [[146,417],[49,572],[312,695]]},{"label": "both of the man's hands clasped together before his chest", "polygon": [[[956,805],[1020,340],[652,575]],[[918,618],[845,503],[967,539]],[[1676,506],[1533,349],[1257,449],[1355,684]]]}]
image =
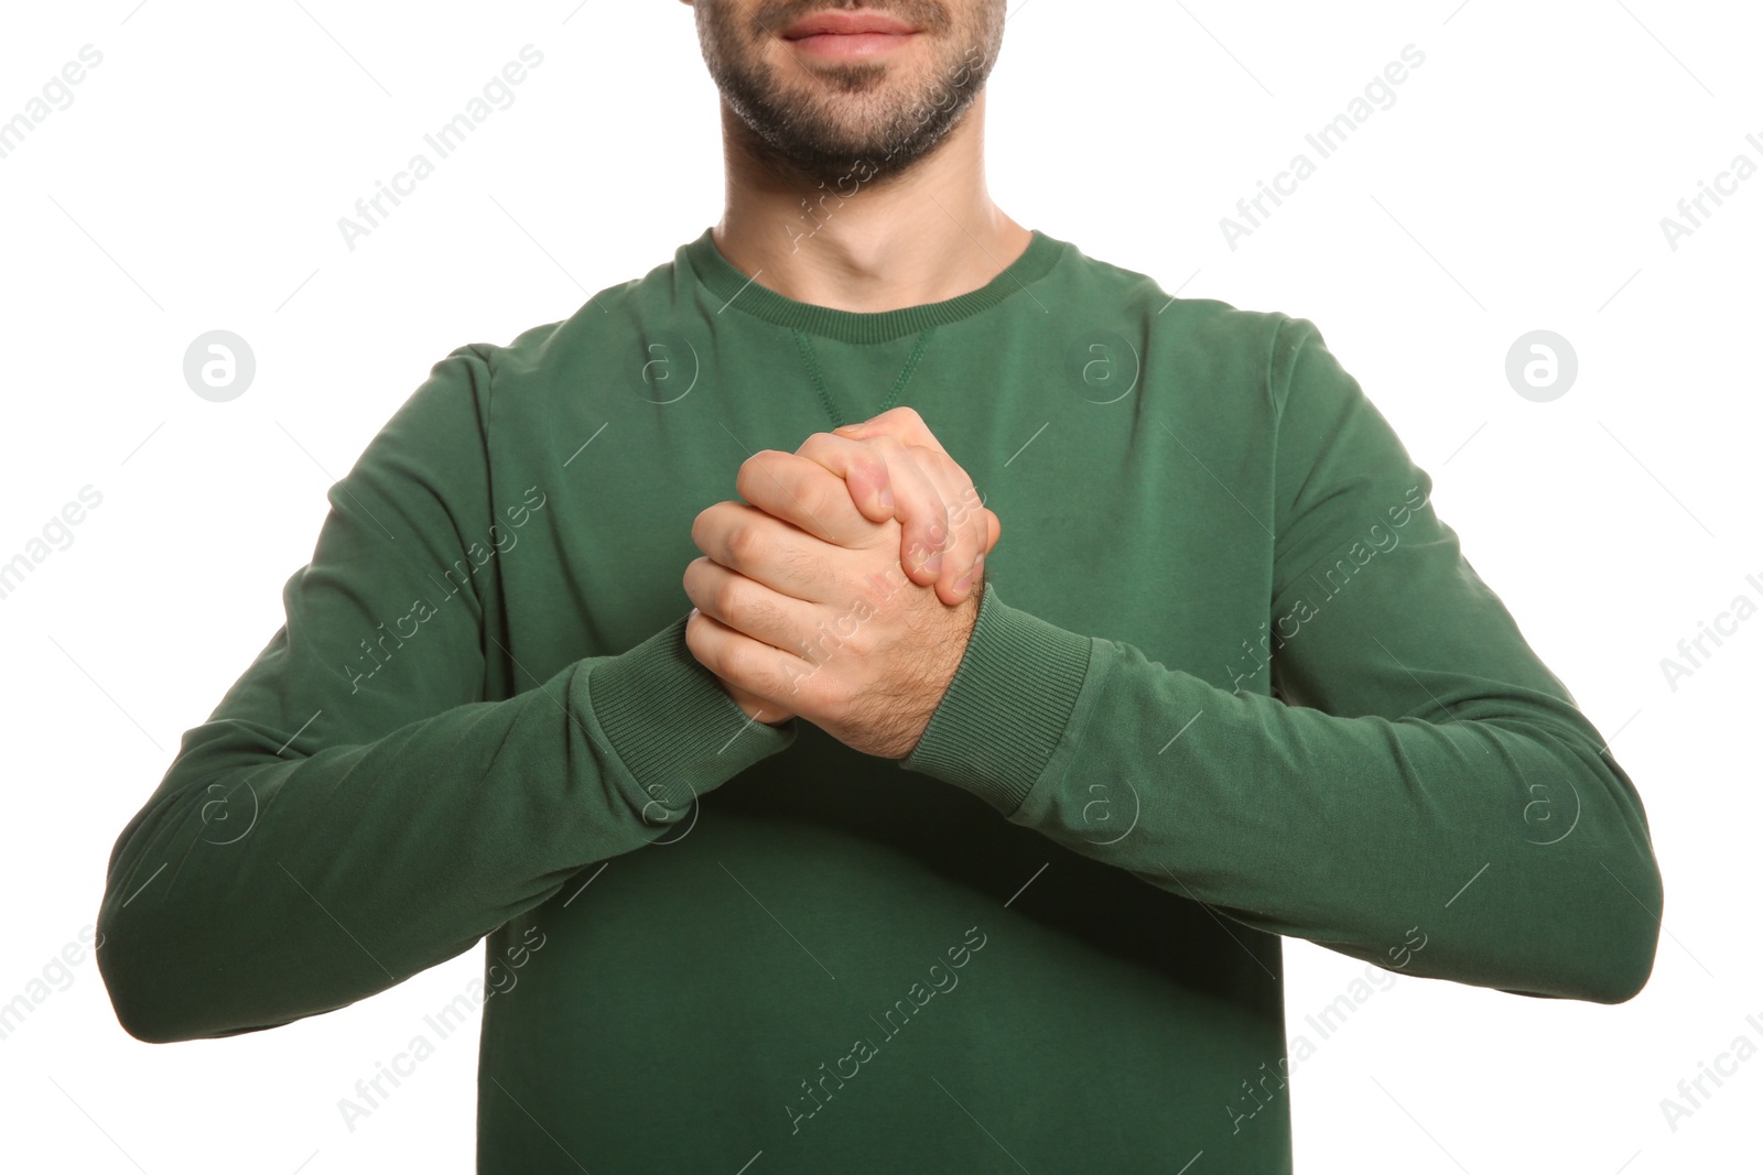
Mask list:
[{"label": "both of the man's hands clasped together before his chest", "polygon": [[913,409],[762,449],[691,527],[686,645],[753,719],[904,759],[954,680],[1001,525]]}]

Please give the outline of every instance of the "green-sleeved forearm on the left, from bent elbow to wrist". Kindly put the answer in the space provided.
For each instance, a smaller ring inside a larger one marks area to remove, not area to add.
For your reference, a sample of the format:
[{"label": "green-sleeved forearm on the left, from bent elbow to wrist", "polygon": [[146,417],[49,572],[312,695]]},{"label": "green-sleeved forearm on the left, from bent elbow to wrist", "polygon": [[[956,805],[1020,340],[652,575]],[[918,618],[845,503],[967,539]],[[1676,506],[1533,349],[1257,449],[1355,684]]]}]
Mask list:
[{"label": "green-sleeved forearm on the left, from bent elbow to wrist", "polygon": [[190,731],[111,856],[99,965],[123,1027],[226,1036],[388,988],[790,745],[793,728],[746,722],[682,625],[358,745]]}]

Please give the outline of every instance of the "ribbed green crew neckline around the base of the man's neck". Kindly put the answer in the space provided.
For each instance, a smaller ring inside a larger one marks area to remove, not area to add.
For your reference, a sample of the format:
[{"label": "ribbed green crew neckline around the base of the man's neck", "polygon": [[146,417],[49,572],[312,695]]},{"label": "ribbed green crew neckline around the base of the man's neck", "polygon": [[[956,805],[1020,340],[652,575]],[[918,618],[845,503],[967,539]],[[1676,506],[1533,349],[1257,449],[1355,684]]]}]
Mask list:
[{"label": "ribbed green crew neckline around the base of the man's neck", "polygon": [[[1005,298],[1023,292],[1045,277],[1065,255],[1067,243],[1040,229],[1030,229],[1028,248],[998,277],[966,294],[927,301],[897,310],[836,310],[786,298],[735,268],[716,247],[714,227],[681,250],[698,280],[718,298],[723,310],[740,310],[765,322],[822,335],[850,344],[880,344],[915,335],[931,326],[959,322]],[[763,273],[763,271],[762,271]],[[756,277],[756,275],[755,275]],[[718,310],[721,314],[721,310]]]}]

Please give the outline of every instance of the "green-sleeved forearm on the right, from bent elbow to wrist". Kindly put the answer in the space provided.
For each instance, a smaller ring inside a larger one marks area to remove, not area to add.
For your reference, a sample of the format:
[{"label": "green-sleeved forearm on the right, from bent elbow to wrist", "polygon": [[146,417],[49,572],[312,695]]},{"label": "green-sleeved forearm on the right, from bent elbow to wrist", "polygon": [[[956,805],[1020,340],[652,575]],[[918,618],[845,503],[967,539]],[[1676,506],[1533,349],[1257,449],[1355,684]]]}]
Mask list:
[{"label": "green-sleeved forearm on the right, from bent elbow to wrist", "polygon": [[1440,678],[1430,715],[1335,717],[994,592],[903,766],[1262,930],[1391,965],[1419,927],[1409,974],[1599,1002],[1645,983],[1661,907],[1645,819],[1564,699]]}]

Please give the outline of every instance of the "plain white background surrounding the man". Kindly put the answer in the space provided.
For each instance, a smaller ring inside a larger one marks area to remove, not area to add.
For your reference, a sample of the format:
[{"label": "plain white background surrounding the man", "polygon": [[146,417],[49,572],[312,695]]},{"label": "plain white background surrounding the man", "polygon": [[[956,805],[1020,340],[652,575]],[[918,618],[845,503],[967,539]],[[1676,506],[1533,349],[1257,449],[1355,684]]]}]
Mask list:
[{"label": "plain white background surrounding the man", "polygon": [[[104,60],[0,159],[0,562],[81,486],[102,493],[0,599],[0,1002],[93,921],[116,833],[279,627],[326,488],[430,365],[642,277],[723,196],[716,90],[673,0],[118,0],[4,21],[0,118],[81,46]],[[337,218],[529,42],[545,62],[515,104],[346,248]],[[1395,106],[1232,250],[1220,217],[1409,44],[1425,65]],[[1763,1059],[1675,1131],[1659,1105],[1737,1036],[1763,1046],[1745,1024],[1763,1020],[1763,617],[1677,689],[1661,669],[1737,595],[1763,604],[1745,581],[1763,581],[1763,176],[1675,250],[1659,224],[1735,155],[1763,164],[1745,143],[1763,139],[1758,44],[1763,16],[1737,2],[1012,7],[989,90],[1000,204],[1169,292],[1322,328],[1611,740],[1664,872],[1657,964],[1627,1004],[1398,978],[1312,1036],[1292,1082],[1301,1171],[1758,1161]],[[182,375],[217,328],[257,359],[231,403]],[[1539,328],[1580,358],[1550,403],[1504,375]],[[1292,1032],[1365,971],[1303,941],[1287,960]],[[0,1164],[469,1170],[474,1031],[353,1133],[337,1101],[480,967],[467,953],[273,1032],[150,1046],[85,953],[0,1041]],[[656,1106],[658,1127],[688,1115]]]}]

